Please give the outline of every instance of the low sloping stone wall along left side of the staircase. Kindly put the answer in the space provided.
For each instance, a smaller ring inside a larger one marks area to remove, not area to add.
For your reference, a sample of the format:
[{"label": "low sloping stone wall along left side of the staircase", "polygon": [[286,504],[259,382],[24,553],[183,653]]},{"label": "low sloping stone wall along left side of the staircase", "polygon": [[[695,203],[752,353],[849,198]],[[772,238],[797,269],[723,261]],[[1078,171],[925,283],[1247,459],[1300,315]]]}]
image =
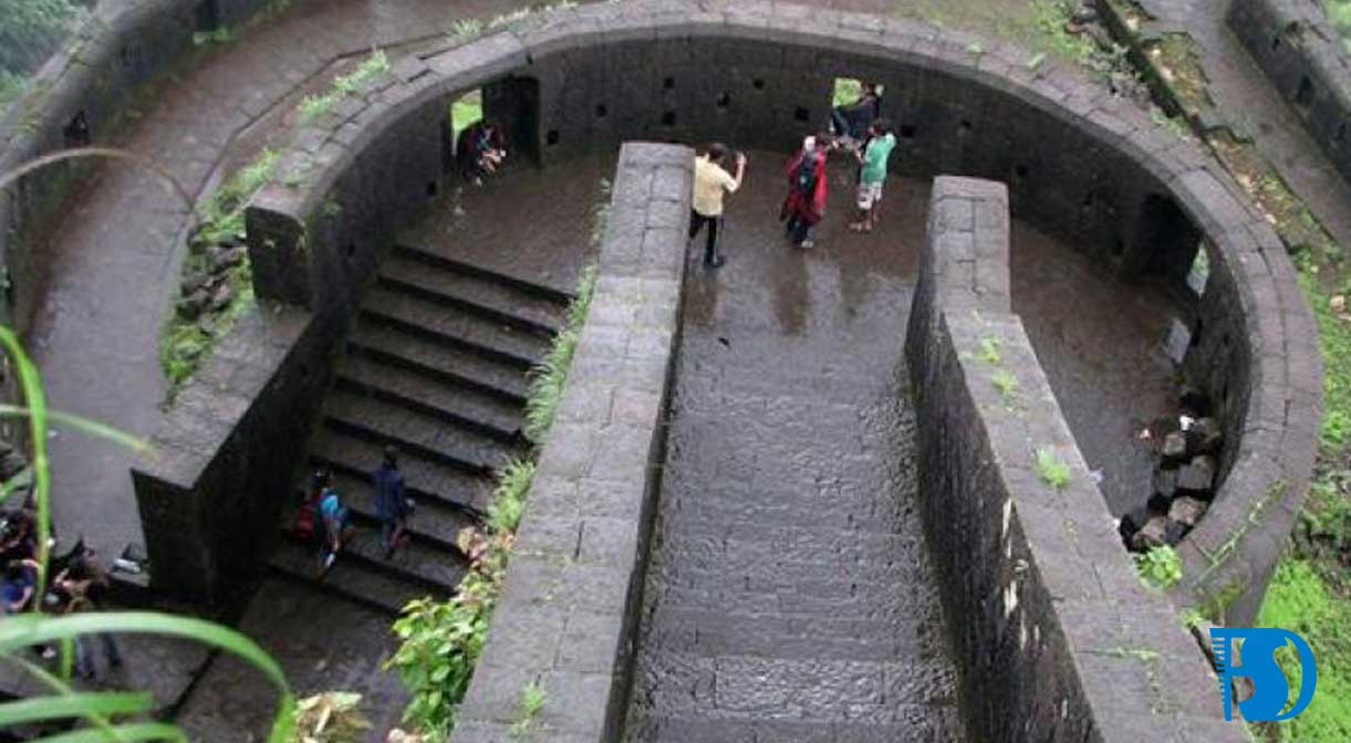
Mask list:
[{"label": "low sloping stone wall along left side of the staircase", "polygon": [[178,392],[131,478],[151,588],[211,603],[266,555],[328,388],[331,338],[261,304]]}]

